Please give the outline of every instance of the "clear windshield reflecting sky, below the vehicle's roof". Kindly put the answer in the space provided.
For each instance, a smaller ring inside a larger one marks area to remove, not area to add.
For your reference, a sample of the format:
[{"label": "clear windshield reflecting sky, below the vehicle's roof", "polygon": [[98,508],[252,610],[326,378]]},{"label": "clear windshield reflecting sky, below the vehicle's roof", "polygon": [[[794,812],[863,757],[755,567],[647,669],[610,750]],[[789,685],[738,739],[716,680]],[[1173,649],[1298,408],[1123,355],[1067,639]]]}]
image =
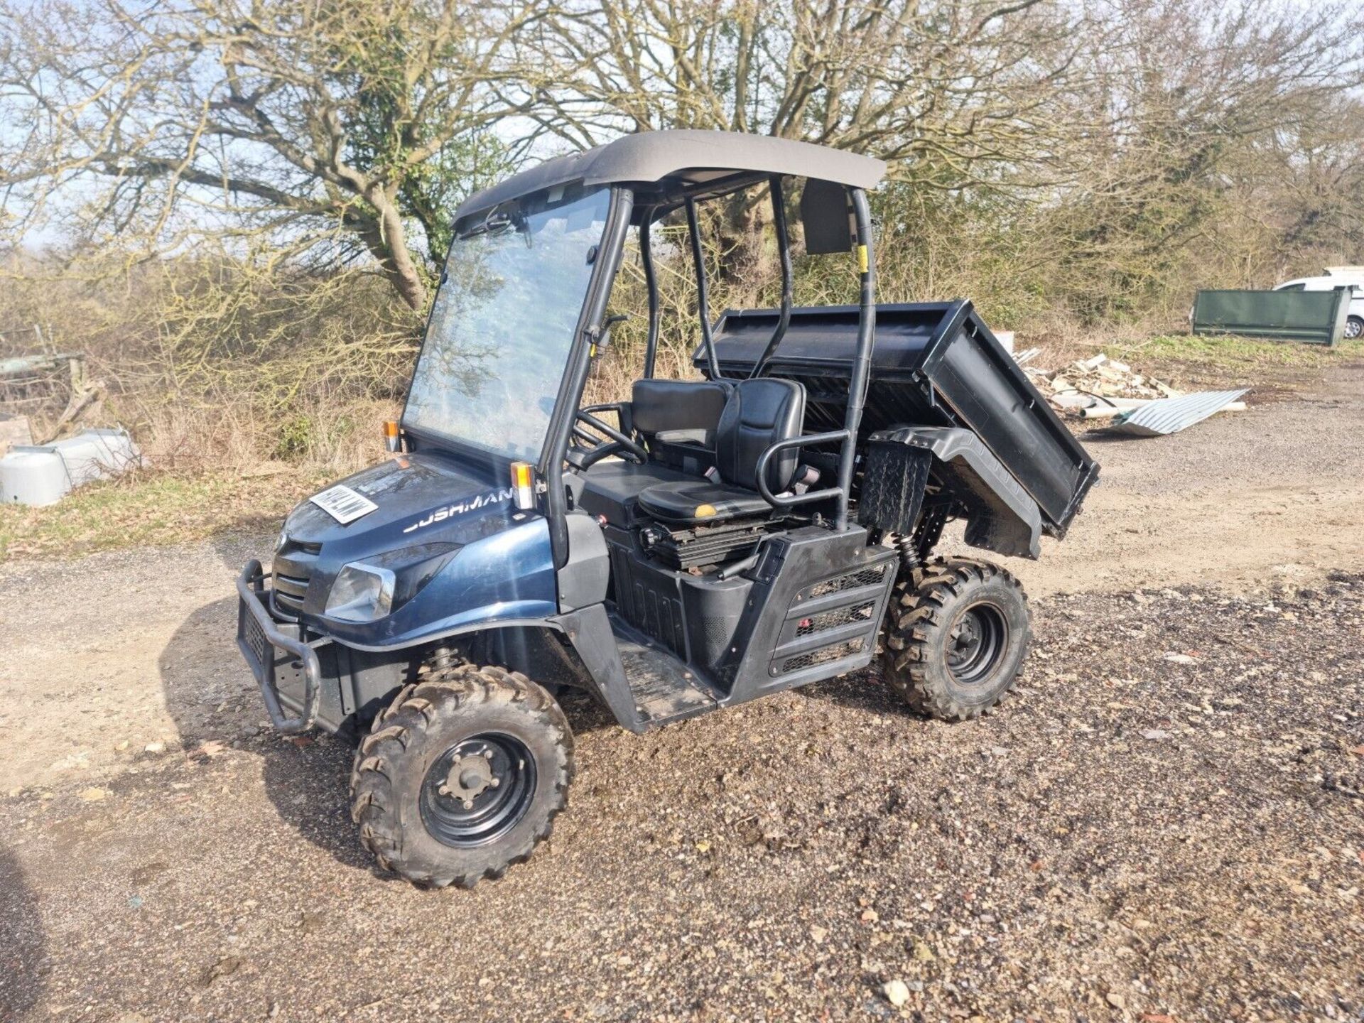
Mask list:
[{"label": "clear windshield reflecting sky, below the vehicle's roof", "polygon": [[405,427],[539,458],[611,201],[557,191],[503,203],[450,246]]}]

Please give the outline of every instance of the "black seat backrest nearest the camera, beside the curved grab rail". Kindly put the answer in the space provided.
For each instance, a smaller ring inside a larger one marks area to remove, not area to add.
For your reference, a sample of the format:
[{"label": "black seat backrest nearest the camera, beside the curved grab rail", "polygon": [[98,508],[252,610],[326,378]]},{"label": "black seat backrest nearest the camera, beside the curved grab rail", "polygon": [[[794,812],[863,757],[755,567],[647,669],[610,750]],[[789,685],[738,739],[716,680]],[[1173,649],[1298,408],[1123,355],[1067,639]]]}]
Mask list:
[{"label": "black seat backrest nearest the camera, beside the curved grab rail", "polygon": [[[805,387],[795,381],[760,376],[734,385],[715,428],[715,468],[735,487],[758,488],[758,457],[777,441],[799,436],[805,426]],[[768,462],[768,487],[780,494],[791,486],[799,449]]]}]

